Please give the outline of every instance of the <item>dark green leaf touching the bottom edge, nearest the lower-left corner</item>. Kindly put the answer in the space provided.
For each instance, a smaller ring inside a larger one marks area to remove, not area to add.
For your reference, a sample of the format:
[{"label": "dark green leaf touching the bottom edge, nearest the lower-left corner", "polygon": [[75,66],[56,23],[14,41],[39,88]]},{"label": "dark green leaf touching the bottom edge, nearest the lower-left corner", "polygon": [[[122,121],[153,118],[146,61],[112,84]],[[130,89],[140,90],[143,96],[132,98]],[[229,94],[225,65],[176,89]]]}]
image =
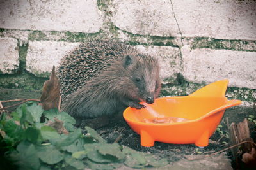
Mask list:
[{"label": "dark green leaf touching the bottom edge, nearest the lower-left corner", "polygon": [[10,157],[19,169],[38,169],[40,167],[39,158],[36,155],[35,145],[21,142],[17,146],[19,152],[12,152]]}]

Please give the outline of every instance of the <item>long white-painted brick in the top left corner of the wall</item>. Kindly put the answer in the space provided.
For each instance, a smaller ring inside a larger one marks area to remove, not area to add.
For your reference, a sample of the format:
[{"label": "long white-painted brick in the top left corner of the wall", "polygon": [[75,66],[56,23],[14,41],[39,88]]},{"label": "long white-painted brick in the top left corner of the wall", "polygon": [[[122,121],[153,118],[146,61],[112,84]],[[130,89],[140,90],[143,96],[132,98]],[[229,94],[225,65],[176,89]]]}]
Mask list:
[{"label": "long white-painted brick in the top left corner of the wall", "polygon": [[0,27],[40,31],[98,32],[97,1],[0,1]]}]

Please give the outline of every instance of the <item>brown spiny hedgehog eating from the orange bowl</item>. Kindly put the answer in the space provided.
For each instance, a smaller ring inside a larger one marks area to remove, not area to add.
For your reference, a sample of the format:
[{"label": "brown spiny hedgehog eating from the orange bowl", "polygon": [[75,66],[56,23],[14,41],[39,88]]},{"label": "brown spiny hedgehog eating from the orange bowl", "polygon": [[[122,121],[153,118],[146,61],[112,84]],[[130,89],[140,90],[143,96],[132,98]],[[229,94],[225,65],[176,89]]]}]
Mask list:
[{"label": "brown spiny hedgehog eating from the orange bowl", "polygon": [[140,102],[154,103],[161,89],[156,58],[109,39],[90,39],[67,53],[58,76],[61,110],[76,120],[145,108]]}]

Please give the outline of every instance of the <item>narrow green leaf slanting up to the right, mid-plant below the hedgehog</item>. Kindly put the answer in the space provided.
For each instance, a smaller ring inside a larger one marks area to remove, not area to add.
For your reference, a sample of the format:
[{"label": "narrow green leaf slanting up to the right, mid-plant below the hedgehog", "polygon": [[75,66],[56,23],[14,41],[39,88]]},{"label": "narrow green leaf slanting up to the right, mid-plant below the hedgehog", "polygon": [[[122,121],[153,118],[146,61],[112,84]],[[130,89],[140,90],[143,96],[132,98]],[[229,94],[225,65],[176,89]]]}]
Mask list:
[{"label": "narrow green leaf slanting up to the right, mid-plant below the hedgehog", "polygon": [[71,132],[68,135],[63,134],[61,137],[63,137],[63,139],[61,139],[60,141],[58,141],[56,143],[57,147],[61,147],[61,146],[68,146],[71,145],[72,143],[74,143],[74,141],[76,141],[80,136],[82,135],[82,131],[81,129],[76,129],[74,132]]}]

